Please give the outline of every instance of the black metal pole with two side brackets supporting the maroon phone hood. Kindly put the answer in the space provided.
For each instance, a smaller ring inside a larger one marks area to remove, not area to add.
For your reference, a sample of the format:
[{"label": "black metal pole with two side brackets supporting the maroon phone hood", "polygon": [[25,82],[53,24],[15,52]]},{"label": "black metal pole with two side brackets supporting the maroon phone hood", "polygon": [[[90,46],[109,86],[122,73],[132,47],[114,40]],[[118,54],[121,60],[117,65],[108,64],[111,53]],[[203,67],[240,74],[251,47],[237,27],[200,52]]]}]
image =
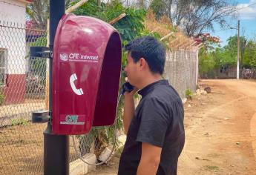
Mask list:
[{"label": "black metal pole with two side brackets supporting the maroon phone hood", "polygon": [[36,111],[32,113],[32,122],[47,122],[44,131],[44,174],[69,174],[69,136],[56,135],[52,132],[50,118],[52,114],[52,65],[53,42],[59,20],[65,14],[65,0],[50,0],[50,42],[49,47],[30,47],[30,56],[49,59],[49,111]]}]

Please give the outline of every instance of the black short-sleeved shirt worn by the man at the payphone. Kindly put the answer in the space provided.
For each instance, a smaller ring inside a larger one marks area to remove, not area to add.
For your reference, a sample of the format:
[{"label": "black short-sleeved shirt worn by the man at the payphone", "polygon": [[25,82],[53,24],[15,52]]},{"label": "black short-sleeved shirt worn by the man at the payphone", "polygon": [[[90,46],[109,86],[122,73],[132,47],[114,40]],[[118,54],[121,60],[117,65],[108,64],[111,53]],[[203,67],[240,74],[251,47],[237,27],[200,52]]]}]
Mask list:
[{"label": "black short-sleeved shirt worn by the man at the payphone", "polygon": [[167,80],[154,82],[138,93],[142,99],[128,129],[118,174],[137,174],[142,142],[162,148],[158,175],[177,174],[185,142],[183,102]]}]

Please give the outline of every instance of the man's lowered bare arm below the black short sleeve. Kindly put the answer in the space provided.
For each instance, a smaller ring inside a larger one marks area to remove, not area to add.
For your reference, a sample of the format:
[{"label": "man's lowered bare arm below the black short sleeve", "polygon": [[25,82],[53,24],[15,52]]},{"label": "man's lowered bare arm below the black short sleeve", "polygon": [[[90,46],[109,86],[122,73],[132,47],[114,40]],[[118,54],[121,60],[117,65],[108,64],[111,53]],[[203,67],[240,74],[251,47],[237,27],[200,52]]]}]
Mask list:
[{"label": "man's lowered bare arm below the black short sleeve", "polygon": [[142,154],[137,175],[155,175],[160,164],[162,148],[142,142]]}]

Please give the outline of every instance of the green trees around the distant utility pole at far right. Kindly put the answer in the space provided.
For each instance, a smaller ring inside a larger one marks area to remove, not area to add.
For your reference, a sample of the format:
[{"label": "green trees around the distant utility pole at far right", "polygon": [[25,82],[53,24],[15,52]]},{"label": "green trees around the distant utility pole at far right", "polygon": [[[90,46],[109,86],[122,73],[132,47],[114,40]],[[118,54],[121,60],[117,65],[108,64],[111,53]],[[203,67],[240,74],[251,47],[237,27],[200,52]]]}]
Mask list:
[{"label": "green trees around the distant utility pole at far right", "polygon": [[[237,64],[237,36],[231,36],[224,47],[202,47],[199,52],[200,75],[213,74],[214,69]],[[240,37],[240,66],[246,68],[256,67],[256,43],[247,42],[244,36]]]}]

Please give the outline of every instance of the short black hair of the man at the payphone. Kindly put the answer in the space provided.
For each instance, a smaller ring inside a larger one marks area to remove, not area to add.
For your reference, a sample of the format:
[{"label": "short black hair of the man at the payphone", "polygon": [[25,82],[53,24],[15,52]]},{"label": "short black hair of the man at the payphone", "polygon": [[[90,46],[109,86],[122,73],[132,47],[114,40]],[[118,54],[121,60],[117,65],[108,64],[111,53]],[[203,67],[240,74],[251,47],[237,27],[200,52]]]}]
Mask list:
[{"label": "short black hair of the man at the payphone", "polygon": [[142,36],[125,45],[134,62],[144,58],[152,73],[163,74],[165,67],[165,47],[153,36]]}]

